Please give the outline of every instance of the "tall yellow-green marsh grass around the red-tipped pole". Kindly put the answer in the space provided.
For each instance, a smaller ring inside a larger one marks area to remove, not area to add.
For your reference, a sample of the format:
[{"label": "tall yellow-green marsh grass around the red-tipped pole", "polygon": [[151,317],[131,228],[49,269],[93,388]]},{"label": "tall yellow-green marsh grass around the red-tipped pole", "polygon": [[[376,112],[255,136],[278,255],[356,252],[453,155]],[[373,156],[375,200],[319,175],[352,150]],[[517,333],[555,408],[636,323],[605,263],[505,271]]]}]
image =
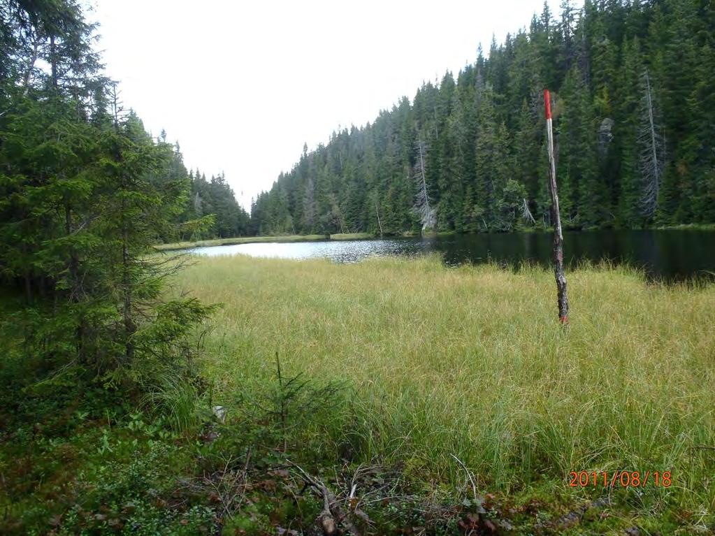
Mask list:
[{"label": "tall yellow-green marsh grass around the red-tipped pole", "polygon": [[673,487],[631,498],[714,510],[713,285],[584,266],[568,274],[563,329],[537,267],[214,257],[179,282],[225,304],[203,366],[227,405],[270,381],[279,352],[286,374],[354,386],[350,420],[324,425],[360,459],[455,480],[455,455],[507,492],[570,471],[670,470]]}]

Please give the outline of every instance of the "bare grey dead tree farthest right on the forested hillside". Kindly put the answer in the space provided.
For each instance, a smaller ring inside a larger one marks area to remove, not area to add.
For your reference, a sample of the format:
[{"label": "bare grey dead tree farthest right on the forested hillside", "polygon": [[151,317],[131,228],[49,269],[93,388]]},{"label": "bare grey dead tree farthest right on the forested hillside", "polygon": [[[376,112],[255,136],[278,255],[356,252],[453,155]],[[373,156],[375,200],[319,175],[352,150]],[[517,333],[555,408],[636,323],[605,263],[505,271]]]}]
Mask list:
[{"label": "bare grey dead tree farthest right on the forested hillside", "polygon": [[653,217],[658,207],[658,195],[665,163],[665,139],[658,124],[659,109],[655,104],[651,77],[646,69],[641,76],[641,124],[638,127],[638,145],[641,152],[638,170],[641,174],[643,196],[641,209],[644,215]]}]

